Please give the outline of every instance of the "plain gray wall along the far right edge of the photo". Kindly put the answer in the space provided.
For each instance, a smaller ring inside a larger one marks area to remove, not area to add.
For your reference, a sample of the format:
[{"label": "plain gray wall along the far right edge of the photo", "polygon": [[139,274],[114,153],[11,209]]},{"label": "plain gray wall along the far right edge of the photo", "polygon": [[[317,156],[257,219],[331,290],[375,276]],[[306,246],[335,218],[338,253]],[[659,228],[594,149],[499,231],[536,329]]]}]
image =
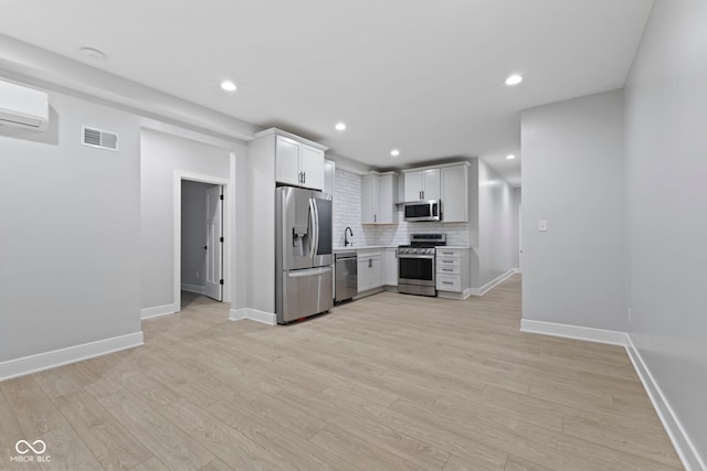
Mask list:
[{"label": "plain gray wall along the far right edge of the photo", "polygon": [[656,1],[625,89],[631,339],[705,462],[706,25]]}]

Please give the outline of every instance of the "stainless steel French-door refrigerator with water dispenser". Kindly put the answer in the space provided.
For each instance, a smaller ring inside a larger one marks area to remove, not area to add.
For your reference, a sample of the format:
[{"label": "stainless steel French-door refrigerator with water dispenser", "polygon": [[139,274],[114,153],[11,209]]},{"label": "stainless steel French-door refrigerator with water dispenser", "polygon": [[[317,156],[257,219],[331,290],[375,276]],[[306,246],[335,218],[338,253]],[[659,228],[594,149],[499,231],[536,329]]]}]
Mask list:
[{"label": "stainless steel French-door refrigerator with water dispenser", "polygon": [[275,208],[277,323],[334,306],[331,195],[281,186]]}]

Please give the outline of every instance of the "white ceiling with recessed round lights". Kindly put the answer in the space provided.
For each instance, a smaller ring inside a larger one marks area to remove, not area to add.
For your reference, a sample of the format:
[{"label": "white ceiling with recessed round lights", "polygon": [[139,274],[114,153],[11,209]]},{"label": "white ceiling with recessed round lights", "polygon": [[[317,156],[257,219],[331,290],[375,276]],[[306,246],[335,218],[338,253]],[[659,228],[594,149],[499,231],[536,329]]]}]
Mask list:
[{"label": "white ceiling with recessed round lights", "polygon": [[622,87],[652,3],[0,0],[0,32],[373,167],[481,157],[519,185],[520,110]]}]

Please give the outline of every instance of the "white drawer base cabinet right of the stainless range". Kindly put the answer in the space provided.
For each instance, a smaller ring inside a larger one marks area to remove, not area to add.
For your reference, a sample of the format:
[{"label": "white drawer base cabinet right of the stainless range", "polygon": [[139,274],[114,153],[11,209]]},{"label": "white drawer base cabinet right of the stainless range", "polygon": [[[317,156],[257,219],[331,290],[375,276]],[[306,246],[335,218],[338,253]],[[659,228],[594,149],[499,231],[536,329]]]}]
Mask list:
[{"label": "white drawer base cabinet right of the stainless range", "polygon": [[437,296],[466,298],[471,293],[469,264],[467,248],[437,248],[435,257]]}]

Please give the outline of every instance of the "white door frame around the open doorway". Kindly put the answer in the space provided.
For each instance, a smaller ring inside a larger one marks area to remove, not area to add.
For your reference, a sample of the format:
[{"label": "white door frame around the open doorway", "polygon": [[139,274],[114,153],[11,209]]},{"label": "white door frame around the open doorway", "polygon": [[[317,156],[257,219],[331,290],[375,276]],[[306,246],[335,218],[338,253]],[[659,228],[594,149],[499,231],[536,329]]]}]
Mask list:
[{"label": "white door frame around the open doorway", "polygon": [[232,254],[234,254],[233,249],[233,234],[231,233],[231,224],[229,220],[229,212],[231,203],[229,200],[229,195],[231,195],[230,185],[231,181],[229,179],[223,179],[220,176],[208,175],[203,173],[194,173],[194,172],[186,172],[182,170],[175,170],[173,176],[173,254],[172,254],[172,274],[173,274],[173,295],[172,302],[175,303],[175,312],[181,311],[181,182],[182,180],[188,180],[192,182],[199,183],[208,183],[214,185],[222,186],[223,202],[221,206],[221,211],[223,213],[223,218],[221,221],[221,231],[223,233],[224,243],[222,247],[222,265],[221,272],[223,274],[223,279],[225,280],[223,283],[223,291],[221,292],[222,302],[231,302],[231,276],[233,274],[231,267],[231,258]]}]

